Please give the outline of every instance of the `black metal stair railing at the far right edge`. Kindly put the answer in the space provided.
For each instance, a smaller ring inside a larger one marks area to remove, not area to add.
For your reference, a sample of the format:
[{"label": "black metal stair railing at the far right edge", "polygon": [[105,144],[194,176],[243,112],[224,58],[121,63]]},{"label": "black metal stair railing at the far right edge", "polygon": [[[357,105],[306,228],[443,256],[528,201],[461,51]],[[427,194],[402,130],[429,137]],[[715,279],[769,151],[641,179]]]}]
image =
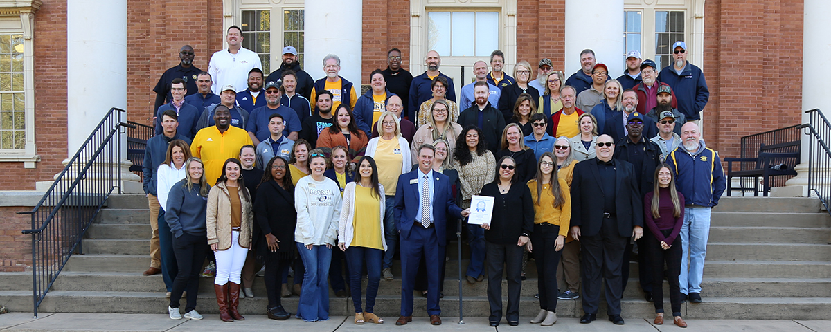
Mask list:
[{"label": "black metal stair railing at the far right edge", "polygon": [[805,113],[809,116],[809,125],[805,129],[805,134],[809,135],[808,196],[810,197],[811,193],[816,194],[825,210],[831,214],[831,186],[824,183],[831,178],[831,124],[819,109],[806,110]]}]

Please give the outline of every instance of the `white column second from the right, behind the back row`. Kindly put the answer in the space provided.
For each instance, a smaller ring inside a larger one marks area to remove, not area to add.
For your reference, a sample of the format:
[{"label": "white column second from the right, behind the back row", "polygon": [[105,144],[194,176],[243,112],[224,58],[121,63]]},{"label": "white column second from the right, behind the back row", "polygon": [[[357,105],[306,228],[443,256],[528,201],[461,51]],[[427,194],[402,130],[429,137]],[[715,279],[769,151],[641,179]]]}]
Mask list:
[{"label": "white column second from the right, behind the back row", "polygon": [[580,70],[580,51],[591,49],[597,62],[609,68],[609,76],[623,72],[623,0],[593,2],[566,0],[565,74]]}]

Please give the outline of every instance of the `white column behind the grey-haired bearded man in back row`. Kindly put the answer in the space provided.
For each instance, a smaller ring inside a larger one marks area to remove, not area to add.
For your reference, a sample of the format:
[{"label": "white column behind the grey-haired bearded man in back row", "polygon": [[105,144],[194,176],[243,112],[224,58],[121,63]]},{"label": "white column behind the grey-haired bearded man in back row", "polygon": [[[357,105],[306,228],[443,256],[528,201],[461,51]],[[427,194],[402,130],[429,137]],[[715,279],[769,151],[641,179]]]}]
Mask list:
[{"label": "white column behind the grey-haired bearded man in back row", "polygon": [[341,76],[361,93],[362,8],[359,0],[306,0],[303,70],[313,79],[326,76],[323,57],[332,53],[341,58]]}]

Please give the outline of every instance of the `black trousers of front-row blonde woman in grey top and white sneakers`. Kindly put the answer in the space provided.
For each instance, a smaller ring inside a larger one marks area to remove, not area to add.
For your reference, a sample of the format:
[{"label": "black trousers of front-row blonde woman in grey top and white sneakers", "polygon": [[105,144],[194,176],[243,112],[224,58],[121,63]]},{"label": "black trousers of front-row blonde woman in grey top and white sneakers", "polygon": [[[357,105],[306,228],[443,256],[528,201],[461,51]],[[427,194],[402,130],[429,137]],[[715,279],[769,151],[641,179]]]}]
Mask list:
[{"label": "black trousers of front-row blonde woman in grey top and white sneakers", "polygon": [[173,237],[173,254],[179,273],[173,281],[173,291],[170,291],[170,307],[179,308],[182,292],[188,291],[188,305],[184,312],[196,309],[196,295],[199,295],[199,273],[205,259],[206,235],[193,235],[187,232],[180,237]]}]

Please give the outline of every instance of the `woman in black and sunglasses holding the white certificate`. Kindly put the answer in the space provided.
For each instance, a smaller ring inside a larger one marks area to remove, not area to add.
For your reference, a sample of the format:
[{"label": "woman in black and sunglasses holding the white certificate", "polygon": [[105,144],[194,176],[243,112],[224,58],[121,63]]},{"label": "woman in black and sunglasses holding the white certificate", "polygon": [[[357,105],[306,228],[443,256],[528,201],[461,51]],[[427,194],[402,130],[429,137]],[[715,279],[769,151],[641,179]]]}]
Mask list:
[{"label": "woman in black and sunglasses holding the white certificate", "polygon": [[534,231],[534,201],[531,190],[519,182],[516,163],[504,156],[496,163],[494,182],[485,184],[479,195],[494,198],[490,222],[482,224],[485,241],[485,265],[488,266],[489,322],[498,326],[502,320],[502,272],[508,275],[508,310],[505,318],[511,326],[519,325],[519,292],[522,289],[522,254],[531,251],[529,236]]}]

